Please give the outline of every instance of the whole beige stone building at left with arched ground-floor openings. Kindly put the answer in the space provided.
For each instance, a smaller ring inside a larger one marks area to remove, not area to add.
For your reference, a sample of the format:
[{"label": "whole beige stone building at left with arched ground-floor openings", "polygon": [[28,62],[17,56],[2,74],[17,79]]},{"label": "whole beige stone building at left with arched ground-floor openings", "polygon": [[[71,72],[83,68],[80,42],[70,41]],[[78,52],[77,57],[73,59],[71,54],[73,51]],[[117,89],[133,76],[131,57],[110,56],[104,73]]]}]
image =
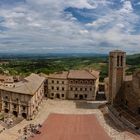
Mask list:
[{"label": "whole beige stone building at left with arched ground-floor openings", "polygon": [[44,96],[44,81],[45,78],[31,74],[10,86],[0,86],[2,112],[33,119]]}]

